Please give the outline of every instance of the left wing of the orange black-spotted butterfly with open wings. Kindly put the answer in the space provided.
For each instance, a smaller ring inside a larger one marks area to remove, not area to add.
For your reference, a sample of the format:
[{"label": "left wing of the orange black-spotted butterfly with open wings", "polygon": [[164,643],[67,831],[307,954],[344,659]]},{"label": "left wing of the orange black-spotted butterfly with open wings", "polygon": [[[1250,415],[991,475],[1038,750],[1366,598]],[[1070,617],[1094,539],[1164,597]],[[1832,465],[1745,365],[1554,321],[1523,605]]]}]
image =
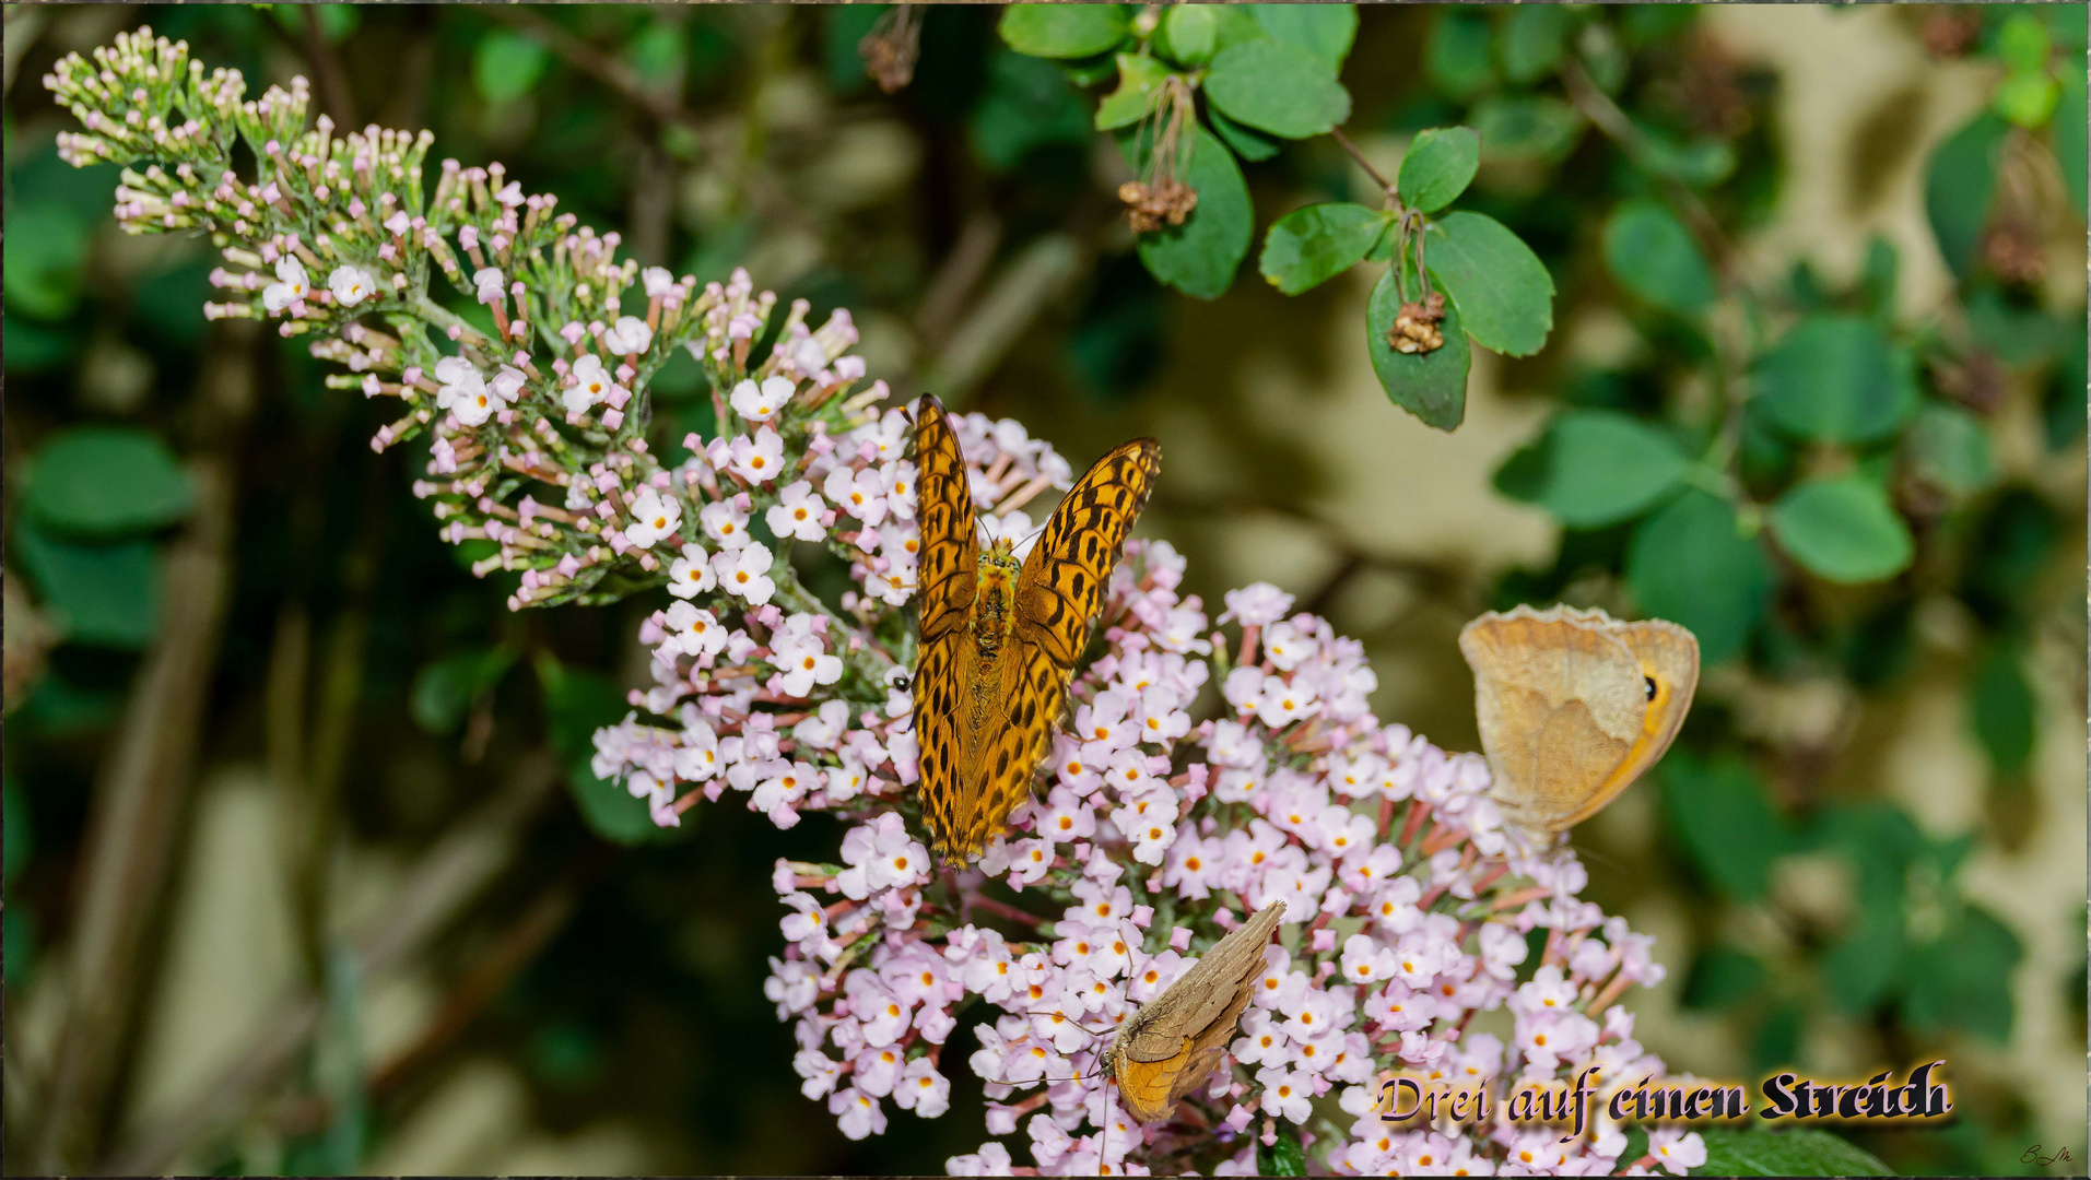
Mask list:
[{"label": "left wing of the orange black-spotted butterfly with open wings", "polygon": [[922,641],[916,647],[916,737],[922,773],[922,821],[939,852],[953,825],[970,808],[960,792],[968,779],[962,766],[960,716],[970,708],[966,685],[972,645],[966,620],[979,593],[979,541],[972,533],[972,491],[958,436],[935,397],[916,403],[916,522],[922,551],[916,558],[916,610]]}]

